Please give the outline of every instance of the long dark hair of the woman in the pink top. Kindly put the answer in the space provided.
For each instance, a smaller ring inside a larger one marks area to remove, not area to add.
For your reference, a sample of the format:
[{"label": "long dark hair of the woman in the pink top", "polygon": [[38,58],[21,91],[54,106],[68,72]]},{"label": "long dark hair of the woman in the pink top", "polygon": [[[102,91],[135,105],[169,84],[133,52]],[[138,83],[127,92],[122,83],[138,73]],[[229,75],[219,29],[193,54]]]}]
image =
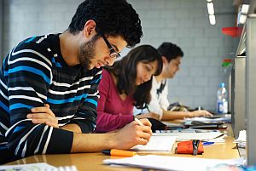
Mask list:
[{"label": "long dark hair of the woman in the pink top", "polygon": [[163,67],[161,55],[150,45],[142,45],[133,48],[123,59],[116,61],[113,66],[106,66],[105,69],[117,77],[117,89],[119,94],[132,95],[137,108],[143,108],[150,101],[150,90],[152,77],[148,82],[135,85],[137,78],[137,64],[143,62],[148,64],[157,61],[157,70],[154,76],[160,75]]}]

